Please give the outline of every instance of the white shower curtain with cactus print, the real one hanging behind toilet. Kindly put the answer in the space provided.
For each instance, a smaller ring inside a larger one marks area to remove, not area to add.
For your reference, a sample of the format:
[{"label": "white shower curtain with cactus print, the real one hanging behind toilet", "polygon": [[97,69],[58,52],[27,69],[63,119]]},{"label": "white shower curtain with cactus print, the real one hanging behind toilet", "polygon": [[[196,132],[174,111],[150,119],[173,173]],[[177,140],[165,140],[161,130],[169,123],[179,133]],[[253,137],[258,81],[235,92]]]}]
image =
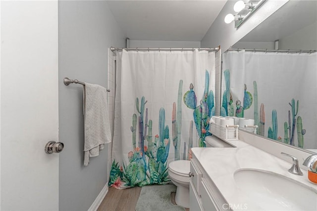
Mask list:
[{"label": "white shower curtain with cactus print, the real one hanging behind toilet", "polygon": [[206,147],[213,90],[213,52],[119,52],[109,186],[169,182],[170,161]]}]

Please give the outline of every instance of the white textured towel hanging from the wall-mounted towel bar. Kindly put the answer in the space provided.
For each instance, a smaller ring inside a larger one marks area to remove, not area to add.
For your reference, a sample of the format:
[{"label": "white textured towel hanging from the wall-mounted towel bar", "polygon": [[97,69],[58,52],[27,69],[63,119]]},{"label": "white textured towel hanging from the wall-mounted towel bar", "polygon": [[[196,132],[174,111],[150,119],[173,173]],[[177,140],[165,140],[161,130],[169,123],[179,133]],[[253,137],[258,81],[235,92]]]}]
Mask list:
[{"label": "white textured towel hanging from the wall-mounted towel bar", "polygon": [[106,88],[88,84],[83,87],[85,158],[88,165],[89,157],[99,156],[106,143],[111,142],[111,132],[107,104]]}]

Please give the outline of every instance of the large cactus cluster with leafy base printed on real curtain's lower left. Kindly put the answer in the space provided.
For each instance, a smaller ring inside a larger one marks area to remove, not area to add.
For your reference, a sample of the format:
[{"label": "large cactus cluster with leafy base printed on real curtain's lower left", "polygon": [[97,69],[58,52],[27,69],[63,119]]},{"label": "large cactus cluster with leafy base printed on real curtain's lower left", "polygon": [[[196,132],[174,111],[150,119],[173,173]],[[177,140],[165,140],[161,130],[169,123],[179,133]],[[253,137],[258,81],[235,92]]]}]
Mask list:
[{"label": "large cactus cluster with leafy base printed on real curtain's lower left", "polygon": [[[128,163],[113,160],[109,186],[124,189],[134,186],[145,186],[150,184],[166,184],[169,182],[166,167],[169,153],[170,139],[168,125],[165,126],[165,110],[159,110],[159,134],[152,135],[152,120],[148,121],[148,108],[145,109],[145,97],[136,98],[136,109],[139,113],[132,116],[132,147],[133,151],[128,153]],[[145,116],[144,116],[145,111]],[[136,146],[138,131],[138,146]],[[148,134],[147,134],[148,133]],[[147,142],[147,145],[145,144]]]}]

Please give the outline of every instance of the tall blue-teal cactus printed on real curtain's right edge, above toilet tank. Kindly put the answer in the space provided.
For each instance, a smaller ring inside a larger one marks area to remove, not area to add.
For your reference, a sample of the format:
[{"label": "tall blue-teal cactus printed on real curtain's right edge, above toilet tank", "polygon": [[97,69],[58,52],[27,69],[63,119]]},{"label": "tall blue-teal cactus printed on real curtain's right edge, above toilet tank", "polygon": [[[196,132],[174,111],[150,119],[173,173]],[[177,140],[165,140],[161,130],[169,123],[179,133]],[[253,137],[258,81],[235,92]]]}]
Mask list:
[{"label": "tall blue-teal cactus printed on real curtain's right edge, above toilet tank", "polygon": [[[209,130],[209,121],[211,116],[214,115],[214,97],[212,90],[209,91],[209,72],[205,72],[205,91],[203,99],[200,101],[200,105],[194,109],[194,121],[196,129],[199,135],[199,147],[206,147],[205,138],[211,135]],[[190,85],[190,91],[194,89],[194,86]],[[186,92],[188,93],[188,92]],[[184,96],[184,103],[187,107],[193,109],[196,98],[195,92],[191,95],[191,98],[186,95]],[[186,99],[186,100],[185,100]]]}]

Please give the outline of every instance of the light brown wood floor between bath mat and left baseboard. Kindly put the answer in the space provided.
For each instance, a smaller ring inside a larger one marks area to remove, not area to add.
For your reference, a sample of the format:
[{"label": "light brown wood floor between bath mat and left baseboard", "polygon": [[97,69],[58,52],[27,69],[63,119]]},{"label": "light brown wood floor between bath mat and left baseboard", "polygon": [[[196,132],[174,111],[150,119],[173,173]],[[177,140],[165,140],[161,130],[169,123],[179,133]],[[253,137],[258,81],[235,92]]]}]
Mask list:
[{"label": "light brown wood floor between bath mat and left baseboard", "polygon": [[117,190],[110,187],[98,211],[135,211],[141,187]]}]

